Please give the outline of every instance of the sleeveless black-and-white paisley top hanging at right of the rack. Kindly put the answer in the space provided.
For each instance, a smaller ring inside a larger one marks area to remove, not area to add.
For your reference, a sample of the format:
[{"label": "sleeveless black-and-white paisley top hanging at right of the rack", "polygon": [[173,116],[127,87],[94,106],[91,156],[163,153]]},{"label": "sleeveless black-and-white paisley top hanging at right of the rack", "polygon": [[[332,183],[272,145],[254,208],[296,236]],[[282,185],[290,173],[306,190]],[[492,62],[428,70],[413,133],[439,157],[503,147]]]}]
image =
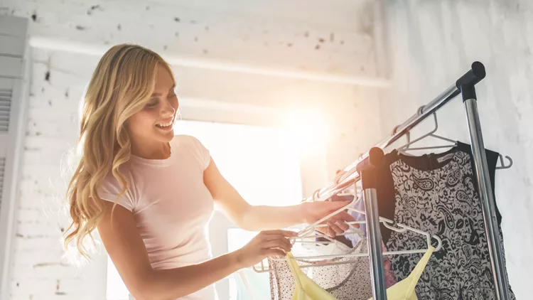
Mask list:
[{"label": "sleeveless black-and-white paisley top hanging at right of the rack", "polygon": [[[486,151],[486,156],[494,188],[498,154]],[[470,145],[458,142],[443,154],[407,156],[392,151],[372,171],[379,178],[380,216],[442,239],[441,250],[431,257],[416,286],[421,299],[496,299],[474,169]],[[501,223],[500,212],[496,213]],[[383,225],[380,229],[389,251],[426,245],[425,237],[414,232],[396,232]],[[419,256],[393,255],[389,259],[400,281],[407,278]],[[515,299],[509,289],[511,299]]]}]

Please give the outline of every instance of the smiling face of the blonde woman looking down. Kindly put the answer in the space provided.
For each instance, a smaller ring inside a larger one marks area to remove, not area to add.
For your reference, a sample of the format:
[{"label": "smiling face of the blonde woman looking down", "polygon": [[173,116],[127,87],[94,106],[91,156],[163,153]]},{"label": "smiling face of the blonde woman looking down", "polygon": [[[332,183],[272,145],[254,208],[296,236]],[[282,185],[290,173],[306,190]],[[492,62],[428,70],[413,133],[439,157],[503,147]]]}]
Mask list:
[{"label": "smiling face of the blonde woman looking down", "polygon": [[178,111],[176,85],[166,68],[159,66],[156,72],[156,86],[149,102],[127,122],[129,134],[137,144],[168,143],[174,136]]}]

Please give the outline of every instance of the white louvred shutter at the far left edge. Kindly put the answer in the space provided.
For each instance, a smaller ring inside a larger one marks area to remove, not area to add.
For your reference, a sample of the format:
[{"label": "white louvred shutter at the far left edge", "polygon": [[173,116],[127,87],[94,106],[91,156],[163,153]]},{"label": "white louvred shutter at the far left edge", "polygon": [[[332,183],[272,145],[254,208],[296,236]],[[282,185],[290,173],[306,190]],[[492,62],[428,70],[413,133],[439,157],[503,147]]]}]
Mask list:
[{"label": "white louvred shutter at the far left edge", "polygon": [[28,19],[0,16],[0,299],[9,299],[29,93]]}]

